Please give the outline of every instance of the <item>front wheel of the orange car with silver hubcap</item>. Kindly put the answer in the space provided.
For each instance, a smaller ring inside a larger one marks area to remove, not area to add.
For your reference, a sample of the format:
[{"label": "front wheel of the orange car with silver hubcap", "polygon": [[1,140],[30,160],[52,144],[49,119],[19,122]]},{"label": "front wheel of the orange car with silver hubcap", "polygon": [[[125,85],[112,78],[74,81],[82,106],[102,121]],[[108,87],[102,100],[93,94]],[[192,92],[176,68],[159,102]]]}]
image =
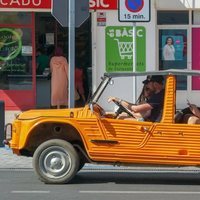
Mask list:
[{"label": "front wheel of the orange car with silver hubcap", "polygon": [[79,156],[64,140],[42,143],[33,155],[33,168],[40,180],[48,184],[68,183],[79,169]]}]

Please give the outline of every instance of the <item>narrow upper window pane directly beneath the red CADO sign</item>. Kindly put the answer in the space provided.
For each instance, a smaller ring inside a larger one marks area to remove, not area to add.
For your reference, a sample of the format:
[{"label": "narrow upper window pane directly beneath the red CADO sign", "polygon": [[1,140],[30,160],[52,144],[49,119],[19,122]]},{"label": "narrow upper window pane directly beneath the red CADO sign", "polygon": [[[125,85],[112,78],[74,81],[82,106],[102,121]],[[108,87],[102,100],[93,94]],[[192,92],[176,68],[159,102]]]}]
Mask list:
[{"label": "narrow upper window pane directly beneath the red CADO sign", "polygon": [[1,12],[0,24],[30,24],[29,12]]}]

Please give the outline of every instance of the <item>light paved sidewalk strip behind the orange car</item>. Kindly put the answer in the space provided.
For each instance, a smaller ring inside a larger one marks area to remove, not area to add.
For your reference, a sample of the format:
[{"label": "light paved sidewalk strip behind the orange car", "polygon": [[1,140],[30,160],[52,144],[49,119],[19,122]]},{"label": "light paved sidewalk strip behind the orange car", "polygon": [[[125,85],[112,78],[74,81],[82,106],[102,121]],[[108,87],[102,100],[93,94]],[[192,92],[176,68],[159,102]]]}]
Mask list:
[{"label": "light paved sidewalk strip behind the orange car", "polygon": [[[0,170],[33,170],[32,157],[17,156],[5,146],[0,147]],[[155,167],[155,166],[113,166],[85,164],[84,171],[119,171],[139,173],[195,173],[200,175],[198,167]]]}]

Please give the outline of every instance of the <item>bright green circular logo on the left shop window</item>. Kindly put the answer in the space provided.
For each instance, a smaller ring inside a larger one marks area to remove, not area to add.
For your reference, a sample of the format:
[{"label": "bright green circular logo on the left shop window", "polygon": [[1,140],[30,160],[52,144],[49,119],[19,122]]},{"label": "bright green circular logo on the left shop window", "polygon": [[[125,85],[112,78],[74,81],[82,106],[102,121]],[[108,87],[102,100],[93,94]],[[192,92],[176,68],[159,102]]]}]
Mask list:
[{"label": "bright green circular logo on the left shop window", "polygon": [[21,37],[21,29],[0,29],[0,60],[12,60],[19,55],[22,49]]}]

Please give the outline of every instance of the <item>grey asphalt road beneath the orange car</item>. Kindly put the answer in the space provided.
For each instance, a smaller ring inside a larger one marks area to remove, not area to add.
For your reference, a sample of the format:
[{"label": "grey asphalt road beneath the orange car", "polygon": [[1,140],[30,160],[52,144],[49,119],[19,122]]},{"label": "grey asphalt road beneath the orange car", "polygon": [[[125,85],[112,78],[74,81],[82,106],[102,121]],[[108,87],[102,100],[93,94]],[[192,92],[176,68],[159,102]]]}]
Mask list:
[{"label": "grey asphalt road beneath the orange car", "polygon": [[40,182],[31,169],[0,170],[0,200],[199,200],[200,174],[80,171],[63,185]]}]

